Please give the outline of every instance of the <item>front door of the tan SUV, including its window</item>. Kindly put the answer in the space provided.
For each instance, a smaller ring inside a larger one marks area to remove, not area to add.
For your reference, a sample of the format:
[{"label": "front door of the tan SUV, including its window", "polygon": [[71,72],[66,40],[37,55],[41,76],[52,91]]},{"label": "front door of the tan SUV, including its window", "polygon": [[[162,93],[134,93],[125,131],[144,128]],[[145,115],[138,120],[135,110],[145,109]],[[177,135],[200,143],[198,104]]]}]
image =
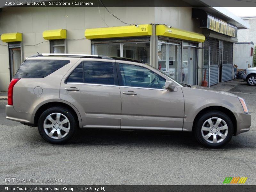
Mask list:
[{"label": "front door of the tan SUV, including its window", "polygon": [[152,70],[119,63],[122,98],[121,129],[182,131],[184,98],[180,87],[164,89],[165,78]]}]

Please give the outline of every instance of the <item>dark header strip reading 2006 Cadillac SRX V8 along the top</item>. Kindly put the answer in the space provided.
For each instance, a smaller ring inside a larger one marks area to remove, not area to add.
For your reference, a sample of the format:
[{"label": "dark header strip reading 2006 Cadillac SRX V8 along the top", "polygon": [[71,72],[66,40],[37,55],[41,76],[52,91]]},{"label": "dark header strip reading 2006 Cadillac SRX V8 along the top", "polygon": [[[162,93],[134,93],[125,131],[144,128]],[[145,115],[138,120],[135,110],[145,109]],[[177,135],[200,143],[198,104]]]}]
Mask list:
[{"label": "dark header strip reading 2006 Cadillac SRX V8 along the top", "polygon": [[256,0],[1,0],[0,7],[256,7]]}]

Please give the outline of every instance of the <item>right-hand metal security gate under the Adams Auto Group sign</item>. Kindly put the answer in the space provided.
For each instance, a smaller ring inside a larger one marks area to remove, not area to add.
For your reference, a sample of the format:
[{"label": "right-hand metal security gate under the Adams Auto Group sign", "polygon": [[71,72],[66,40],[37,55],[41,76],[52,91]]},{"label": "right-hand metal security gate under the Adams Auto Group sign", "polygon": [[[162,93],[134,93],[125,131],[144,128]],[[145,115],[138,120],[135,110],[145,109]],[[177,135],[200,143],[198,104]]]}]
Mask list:
[{"label": "right-hand metal security gate under the Adams Auto Group sign", "polygon": [[226,82],[232,80],[233,43],[223,41],[222,47],[221,82]]}]

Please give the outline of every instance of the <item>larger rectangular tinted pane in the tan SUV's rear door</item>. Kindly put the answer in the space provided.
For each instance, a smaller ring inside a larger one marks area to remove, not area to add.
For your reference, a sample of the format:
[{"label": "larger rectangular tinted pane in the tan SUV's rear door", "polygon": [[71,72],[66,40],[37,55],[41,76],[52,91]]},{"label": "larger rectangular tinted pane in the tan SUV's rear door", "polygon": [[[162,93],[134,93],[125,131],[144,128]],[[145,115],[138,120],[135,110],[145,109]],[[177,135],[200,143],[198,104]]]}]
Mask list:
[{"label": "larger rectangular tinted pane in the tan SUV's rear door", "polygon": [[85,61],[84,83],[113,85],[113,63],[101,61]]}]

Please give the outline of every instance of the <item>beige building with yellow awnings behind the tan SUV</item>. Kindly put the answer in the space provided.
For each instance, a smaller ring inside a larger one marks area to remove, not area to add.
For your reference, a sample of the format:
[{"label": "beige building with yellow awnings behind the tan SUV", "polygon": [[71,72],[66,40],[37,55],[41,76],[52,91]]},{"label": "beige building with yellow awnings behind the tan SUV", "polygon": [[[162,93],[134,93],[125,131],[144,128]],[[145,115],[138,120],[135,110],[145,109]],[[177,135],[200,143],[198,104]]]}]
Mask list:
[{"label": "beige building with yellow awnings behind the tan SUV", "polygon": [[192,85],[201,85],[204,70],[210,85],[232,79],[236,30],[248,28],[239,18],[208,7],[108,10],[119,20],[105,7],[2,8],[0,91],[7,91],[21,63],[37,52],[142,60]]}]

